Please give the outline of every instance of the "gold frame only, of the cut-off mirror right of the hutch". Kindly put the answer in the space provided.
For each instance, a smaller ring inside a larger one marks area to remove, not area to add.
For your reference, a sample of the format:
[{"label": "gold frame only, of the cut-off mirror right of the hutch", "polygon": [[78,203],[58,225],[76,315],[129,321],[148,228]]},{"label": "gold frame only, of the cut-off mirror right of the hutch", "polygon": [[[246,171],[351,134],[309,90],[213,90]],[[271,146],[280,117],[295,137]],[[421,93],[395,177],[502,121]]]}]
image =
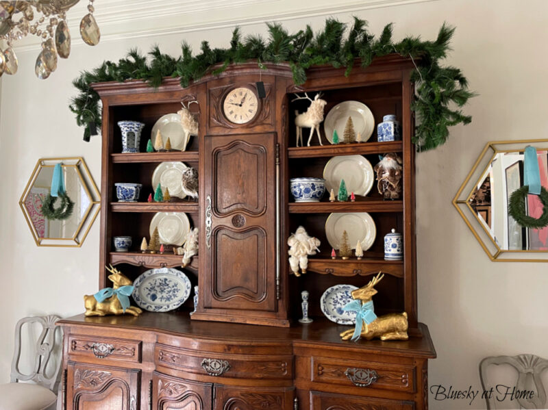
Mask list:
[{"label": "gold frame only, of the cut-off mirror right of the hutch", "polygon": [[486,229],[485,224],[479,219],[477,213],[474,212],[472,205],[470,205],[470,198],[473,195],[474,188],[477,187],[480,179],[484,177],[495,156],[499,153],[523,151],[527,145],[532,145],[539,151],[548,151],[548,139],[488,142],[482,153],[479,154],[472,170],[466,179],[464,179],[462,185],[460,185],[455,198],[453,198],[453,205],[491,261],[548,262],[548,251],[509,251],[501,249]]}]

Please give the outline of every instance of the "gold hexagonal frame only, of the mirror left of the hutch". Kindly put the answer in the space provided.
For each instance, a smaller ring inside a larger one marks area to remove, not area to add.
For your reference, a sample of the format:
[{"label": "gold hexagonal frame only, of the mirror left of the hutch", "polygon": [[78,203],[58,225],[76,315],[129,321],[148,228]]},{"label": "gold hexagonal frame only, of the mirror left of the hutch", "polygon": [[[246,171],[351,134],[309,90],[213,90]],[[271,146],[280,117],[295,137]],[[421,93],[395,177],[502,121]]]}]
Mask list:
[{"label": "gold hexagonal frame only, of the mirror left of the hutch", "polygon": [[[62,166],[75,168],[77,175],[82,182],[82,186],[90,198],[90,205],[86,209],[86,214],[84,214],[82,222],[80,222],[72,238],[40,238],[38,231],[36,231],[36,227],[34,227],[34,224],[32,223],[27,207],[25,206],[25,201],[27,201],[27,196],[29,196],[34,181],[36,181],[40,174],[40,170],[42,170],[42,168],[53,167],[59,162],[62,162]],[[93,222],[95,222],[95,218],[97,218],[97,215],[99,214],[99,210],[101,209],[101,193],[99,192],[83,157],[40,158],[38,159],[38,162],[36,162],[32,175],[21,195],[19,207],[21,207],[21,210],[23,211],[23,215],[25,216],[25,220],[27,221],[27,225],[29,226],[37,246],[79,248],[84,243]]]}]

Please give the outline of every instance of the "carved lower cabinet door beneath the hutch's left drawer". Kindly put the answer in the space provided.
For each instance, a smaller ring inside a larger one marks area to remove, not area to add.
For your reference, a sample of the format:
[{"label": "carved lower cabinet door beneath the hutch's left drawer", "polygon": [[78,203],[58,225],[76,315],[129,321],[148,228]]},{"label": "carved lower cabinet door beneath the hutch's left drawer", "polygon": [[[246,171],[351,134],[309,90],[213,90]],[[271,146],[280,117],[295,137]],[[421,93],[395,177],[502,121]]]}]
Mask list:
[{"label": "carved lower cabinet door beneath the hutch's left drawer", "polygon": [[138,410],[140,370],[69,362],[66,410]]}]

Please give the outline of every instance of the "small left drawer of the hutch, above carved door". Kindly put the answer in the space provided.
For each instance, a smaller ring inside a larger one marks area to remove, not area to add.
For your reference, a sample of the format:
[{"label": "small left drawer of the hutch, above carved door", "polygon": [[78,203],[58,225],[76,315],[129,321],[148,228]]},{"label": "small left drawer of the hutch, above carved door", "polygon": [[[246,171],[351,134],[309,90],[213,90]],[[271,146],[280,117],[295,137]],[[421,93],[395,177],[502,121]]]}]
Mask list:
[{"label": "small left drawer of the hutch, above carved door", "polygon": [[110,337],[69,336],[69,355],[141,362],[142,342]]}]

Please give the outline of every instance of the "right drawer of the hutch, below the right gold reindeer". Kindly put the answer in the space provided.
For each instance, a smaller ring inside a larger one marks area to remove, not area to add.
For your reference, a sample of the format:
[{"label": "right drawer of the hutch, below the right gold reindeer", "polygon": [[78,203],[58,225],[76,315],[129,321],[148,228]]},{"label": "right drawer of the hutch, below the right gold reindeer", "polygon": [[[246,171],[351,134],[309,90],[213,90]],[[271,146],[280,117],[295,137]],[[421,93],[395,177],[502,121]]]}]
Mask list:
[{"label": "right drawer of the hutch, below the right gold reindeer", "polygon": [[312,357],[312,382],[415,392],[414,366]]}]

